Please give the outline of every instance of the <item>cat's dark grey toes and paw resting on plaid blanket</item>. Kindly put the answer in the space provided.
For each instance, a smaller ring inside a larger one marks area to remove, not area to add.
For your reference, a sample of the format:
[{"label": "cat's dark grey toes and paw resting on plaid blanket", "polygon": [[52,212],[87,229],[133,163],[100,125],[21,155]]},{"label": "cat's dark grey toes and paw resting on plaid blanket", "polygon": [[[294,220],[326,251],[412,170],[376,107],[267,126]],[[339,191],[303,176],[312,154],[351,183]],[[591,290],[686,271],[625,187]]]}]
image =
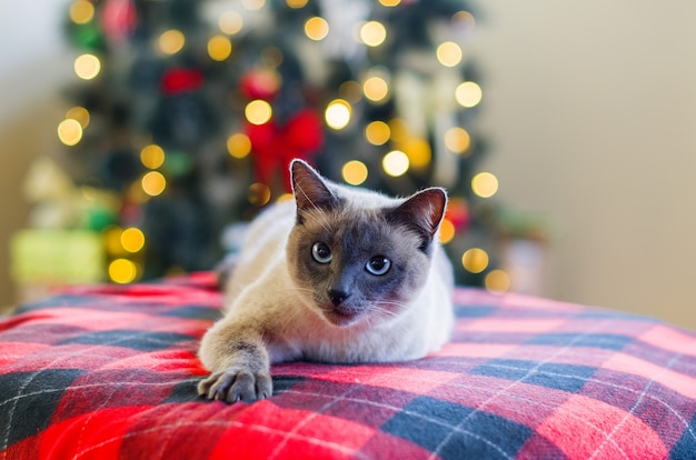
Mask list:
[{"label": "cat's dark grey toes and paw resting on plaid blanket", "polygon": [[198,383],[198,394],[208,399],[237,402],[269,398],[274,384],[268,372],[228,369],[213,372]]}]

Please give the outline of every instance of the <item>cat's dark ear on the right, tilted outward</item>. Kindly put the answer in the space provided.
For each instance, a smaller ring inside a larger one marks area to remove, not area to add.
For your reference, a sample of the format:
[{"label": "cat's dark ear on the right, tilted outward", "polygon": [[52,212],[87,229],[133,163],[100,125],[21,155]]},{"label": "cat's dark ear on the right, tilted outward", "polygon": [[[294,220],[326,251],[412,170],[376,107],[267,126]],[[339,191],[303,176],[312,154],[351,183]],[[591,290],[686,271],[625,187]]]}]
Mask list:
[{"label": "cat's dark ear on the right, tilted outward", "polygon": [[447,192],[439,187],[421,190],[406,199],[398,208],[389,212],[389,219],[416,230],[422,236],[427,248],[445,217]]}]

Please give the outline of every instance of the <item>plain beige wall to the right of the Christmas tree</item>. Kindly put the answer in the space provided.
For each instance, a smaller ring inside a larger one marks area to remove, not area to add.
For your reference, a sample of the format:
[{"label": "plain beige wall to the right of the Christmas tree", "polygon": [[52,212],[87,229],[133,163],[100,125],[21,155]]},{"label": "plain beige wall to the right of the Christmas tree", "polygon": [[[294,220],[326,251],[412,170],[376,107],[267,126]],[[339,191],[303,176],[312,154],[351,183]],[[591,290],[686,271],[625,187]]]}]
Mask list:
[{"label": "plain beige wall to the right of the Christmas tree", "polygon": [[696,2],[477,4],[485,167],[553,222],[547,294],[696,329]]}]

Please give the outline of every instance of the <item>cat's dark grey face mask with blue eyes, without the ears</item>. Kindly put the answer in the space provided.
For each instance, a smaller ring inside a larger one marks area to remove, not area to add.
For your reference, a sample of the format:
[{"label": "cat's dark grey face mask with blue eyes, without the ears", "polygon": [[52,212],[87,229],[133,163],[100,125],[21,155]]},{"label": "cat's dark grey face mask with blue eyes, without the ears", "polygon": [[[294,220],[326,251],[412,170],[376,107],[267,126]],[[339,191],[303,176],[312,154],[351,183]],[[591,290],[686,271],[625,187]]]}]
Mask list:
[{"label": "cat's dark grey face mask with blue eyes, without the ears", "polygon": [[418,234],[380,211],[315,211],[296,224],[290,273],[329,322],[388,320],[427,279],[430,260]]}]

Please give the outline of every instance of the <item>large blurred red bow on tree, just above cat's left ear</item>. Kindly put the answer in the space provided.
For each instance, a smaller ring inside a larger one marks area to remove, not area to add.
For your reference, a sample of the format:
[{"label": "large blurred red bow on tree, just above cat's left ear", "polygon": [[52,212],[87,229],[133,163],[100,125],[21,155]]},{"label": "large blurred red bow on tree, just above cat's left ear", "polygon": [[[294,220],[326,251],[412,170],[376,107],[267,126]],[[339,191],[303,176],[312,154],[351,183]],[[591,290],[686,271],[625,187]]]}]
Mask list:
[{"label": "large blurred red bow on tree, just above cat's left ear", "polygon": [[256,176],[262,183],[272,183],[279,171],[290,191],[288,164],[295,158],[308,160],[324,142],[321,121],[310,110],[300,110],[285,126],[274,120],[264,124],[247,123],[246,132],[256,154]]}]

